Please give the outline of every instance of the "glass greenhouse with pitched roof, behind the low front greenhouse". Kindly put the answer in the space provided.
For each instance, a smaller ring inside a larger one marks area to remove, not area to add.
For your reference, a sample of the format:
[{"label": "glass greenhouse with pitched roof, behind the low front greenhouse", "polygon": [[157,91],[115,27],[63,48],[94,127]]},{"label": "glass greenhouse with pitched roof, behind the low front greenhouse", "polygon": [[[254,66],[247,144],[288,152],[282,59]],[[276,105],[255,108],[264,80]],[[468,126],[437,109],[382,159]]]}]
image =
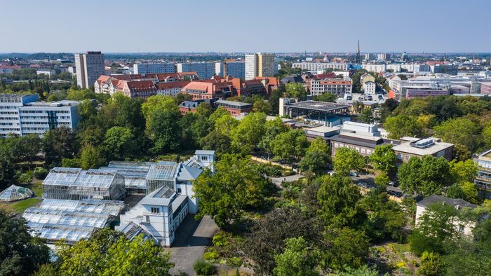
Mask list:
[{"label": "glass greenhouse with pitched roof, behind the low front greenhouse", "polygon": [[124,182],[116,170],[55,167],[43,181],[43,198],[120,200],[126,195]]}]

